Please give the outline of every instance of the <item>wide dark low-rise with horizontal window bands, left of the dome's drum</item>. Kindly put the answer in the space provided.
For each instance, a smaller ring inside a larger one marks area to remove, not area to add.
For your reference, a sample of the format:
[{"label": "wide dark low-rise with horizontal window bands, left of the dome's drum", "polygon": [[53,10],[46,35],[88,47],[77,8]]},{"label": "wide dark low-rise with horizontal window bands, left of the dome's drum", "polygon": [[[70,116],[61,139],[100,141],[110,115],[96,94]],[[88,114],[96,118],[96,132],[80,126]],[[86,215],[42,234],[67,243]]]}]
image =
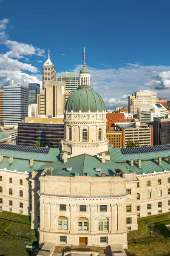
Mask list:
[{"label": "wide dark low-rise with horizontal window bands, left of the dome's drum", "polygon": [[64,138],[64,124],[20,122],[18,124],[18,145],[34,146],[37,141],[41,146],[59,147]]}]

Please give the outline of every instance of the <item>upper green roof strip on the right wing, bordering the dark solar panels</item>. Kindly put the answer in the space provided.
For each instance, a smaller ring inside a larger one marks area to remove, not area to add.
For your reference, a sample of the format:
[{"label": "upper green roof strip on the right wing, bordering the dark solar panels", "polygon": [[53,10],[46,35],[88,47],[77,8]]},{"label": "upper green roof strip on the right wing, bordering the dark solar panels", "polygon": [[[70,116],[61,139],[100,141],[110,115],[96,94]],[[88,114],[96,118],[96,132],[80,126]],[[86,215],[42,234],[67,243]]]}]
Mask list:
[{"label": "upper green roof strip on the right wing, bordering the dark solar panels", "polygon": [[136,154],[122,154],[120,148],[112,148],[109,146],[109,154],[111,161],[116,163],[126,162],[133,160],[151,160],[157,159],[158,157],[170,156],[170,150],[162,150],[159,152],[147,152],[147,153],[136,153]]}]

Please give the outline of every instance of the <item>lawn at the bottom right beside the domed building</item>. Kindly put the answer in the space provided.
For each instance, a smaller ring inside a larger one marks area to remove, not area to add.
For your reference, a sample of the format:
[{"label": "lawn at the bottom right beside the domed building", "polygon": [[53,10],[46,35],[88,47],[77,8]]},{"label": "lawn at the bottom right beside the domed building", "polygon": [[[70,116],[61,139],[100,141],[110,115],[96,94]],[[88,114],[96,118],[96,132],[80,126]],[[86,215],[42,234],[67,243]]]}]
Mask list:
[{"label": "lawn at the bottom right beside the domed building", "polygon": [[164,232],[164,223],[170,224],[169,213],[138,218],[138,230],[127,234],[127,256],[170,256],[170,234]]}]

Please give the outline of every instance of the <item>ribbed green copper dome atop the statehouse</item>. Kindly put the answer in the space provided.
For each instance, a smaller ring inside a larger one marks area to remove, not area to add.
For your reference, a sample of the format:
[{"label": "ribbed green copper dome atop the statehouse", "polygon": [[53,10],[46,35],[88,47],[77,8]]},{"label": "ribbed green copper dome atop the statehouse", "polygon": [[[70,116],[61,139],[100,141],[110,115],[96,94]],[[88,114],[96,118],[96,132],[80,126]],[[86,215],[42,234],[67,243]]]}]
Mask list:
[{"label": "ribbed green copper dome atop the statehouse", "polygon": [[65,111],[77,113],[96,113],[105,111],[105,103],[102,97],[96,93],[90,86],[79,86],[71,93],[65,104]]}]

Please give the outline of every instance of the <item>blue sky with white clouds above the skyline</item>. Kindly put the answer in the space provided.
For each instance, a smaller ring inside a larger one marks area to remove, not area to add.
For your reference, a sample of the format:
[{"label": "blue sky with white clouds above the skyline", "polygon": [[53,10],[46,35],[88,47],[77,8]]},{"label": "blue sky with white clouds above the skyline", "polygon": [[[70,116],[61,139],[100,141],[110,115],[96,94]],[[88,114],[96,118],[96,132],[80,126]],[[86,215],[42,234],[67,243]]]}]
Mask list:
[{"label": "blue sky with white clouds above the skyline", "polygon": [[0,86],[41,81],[48,47],[57,73],[79,72],[85,46],[107,108],[139,90],[170,99],[169,9],[168,0],[0,0]]}]

